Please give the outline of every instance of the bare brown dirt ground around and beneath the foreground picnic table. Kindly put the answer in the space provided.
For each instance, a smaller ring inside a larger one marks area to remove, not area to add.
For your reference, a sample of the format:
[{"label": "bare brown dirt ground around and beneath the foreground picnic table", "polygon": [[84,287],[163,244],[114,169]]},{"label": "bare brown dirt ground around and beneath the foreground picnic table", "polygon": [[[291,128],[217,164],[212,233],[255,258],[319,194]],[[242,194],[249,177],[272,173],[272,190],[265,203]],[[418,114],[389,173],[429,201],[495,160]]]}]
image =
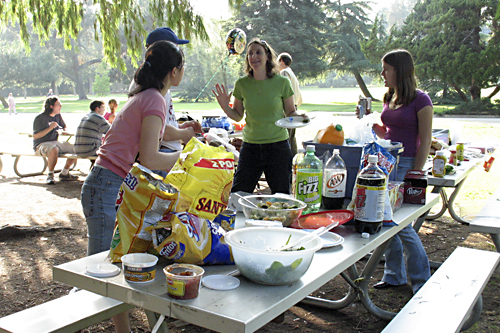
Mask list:
[{"label": "bare brown dirt ground around and beneath the foreground picnic table", "polygon": [[[79,181],[45,185],[45,176],[19,178],[12,171],[12,158],[1,156],[0,175],[0,317],[32,307],[68,293],[71,287],[52,280],[52,266],[85,256],[86,226],[80,205],[80,189],[88,172],[80,161]],[[36,161],[30,162],[30,166]],[[494,250],[491,240],[470,234],[468,227],[449,216],[426,222],[421,239],[432,261],[443,261],[457,246]],[[382,265],[374,283],[382,274]],[[500,270],[492,276],[483,293],[480,320],[470,332],[500,331]],[[336,278],[316,291],[316,295],[338,299],[347,288]],[[371,290],[374,302],[384,309],[400,309],[410,298],[409,286]],[[446,309],[443,309],[446,311]],[[140,309],[132,312],[134,332],[150,332]],[[258,332],[380,332],[387,323],[370,315],[359,302],[340,310],[322,310],[298,304],[285,313],[283,323],[269,323]],[[169,321],[171,332],[210,332],[193,325]],[[105,321],[83,332],[113,332]]]}]

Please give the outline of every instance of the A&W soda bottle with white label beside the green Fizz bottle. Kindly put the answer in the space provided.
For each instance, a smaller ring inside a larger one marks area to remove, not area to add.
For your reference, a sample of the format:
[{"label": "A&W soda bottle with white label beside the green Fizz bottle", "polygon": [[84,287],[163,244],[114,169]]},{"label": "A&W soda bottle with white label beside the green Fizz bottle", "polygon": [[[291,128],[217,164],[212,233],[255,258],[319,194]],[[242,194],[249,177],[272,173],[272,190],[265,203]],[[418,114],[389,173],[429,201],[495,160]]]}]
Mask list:
[{"label": "A&W soda bottle with white label beside the green Fizz bottle", "polygon": [[338,149],[328,159],[323,168],[323,188],[321,203],[325,209],[341,209],[344,205],[347,168]]}]

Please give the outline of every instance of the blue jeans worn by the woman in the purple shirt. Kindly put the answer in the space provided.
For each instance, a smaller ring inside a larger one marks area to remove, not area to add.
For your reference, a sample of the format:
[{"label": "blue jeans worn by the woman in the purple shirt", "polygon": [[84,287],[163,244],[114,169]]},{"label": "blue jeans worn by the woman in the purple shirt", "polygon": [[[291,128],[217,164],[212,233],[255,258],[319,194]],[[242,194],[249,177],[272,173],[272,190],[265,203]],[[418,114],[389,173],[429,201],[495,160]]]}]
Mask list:
[{"label": "blue jeans worn by the woman in the purple shirt", "polygon": [[[400,157],[396,180],[403,181],[406,171],[412,170],[414,165],[415,158]],[[416,293],[431,277],[431,270],[424,246],[411,224],[397,233],[387,247],[382,281],[392,285],[402,285],[408,282],[403,250],[406,253],[408,276],[413,292]]]}]

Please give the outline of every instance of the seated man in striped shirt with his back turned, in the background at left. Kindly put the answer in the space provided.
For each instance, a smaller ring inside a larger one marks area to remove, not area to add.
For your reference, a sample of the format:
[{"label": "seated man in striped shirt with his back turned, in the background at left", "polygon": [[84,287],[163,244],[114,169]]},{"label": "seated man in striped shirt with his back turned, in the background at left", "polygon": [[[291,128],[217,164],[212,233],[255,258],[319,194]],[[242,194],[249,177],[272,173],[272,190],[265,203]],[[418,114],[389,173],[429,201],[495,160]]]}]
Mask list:
[{"label": "seated man in striped shirt with his back turned, in the background at left", "polygon": [[76,129],[75,154],[81,157],[97,156],[102,137],[111,125],[102,116],[106,111],[104,101],[90,103],[90,113],[86,114]]}]

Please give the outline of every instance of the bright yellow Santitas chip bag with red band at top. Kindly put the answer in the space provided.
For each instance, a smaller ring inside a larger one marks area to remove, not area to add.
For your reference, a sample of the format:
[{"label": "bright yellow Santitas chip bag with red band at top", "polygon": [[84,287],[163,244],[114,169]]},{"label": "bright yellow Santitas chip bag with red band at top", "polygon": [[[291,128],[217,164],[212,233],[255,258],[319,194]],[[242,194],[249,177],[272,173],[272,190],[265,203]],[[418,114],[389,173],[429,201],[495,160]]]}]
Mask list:
[{"label": "bright yellow Santitas chip bag with red band at top", "polygon": [[181,192],[177,212],[213,220],[227,207],[233,177],[233,153],[192,138],[164,182]]}]

